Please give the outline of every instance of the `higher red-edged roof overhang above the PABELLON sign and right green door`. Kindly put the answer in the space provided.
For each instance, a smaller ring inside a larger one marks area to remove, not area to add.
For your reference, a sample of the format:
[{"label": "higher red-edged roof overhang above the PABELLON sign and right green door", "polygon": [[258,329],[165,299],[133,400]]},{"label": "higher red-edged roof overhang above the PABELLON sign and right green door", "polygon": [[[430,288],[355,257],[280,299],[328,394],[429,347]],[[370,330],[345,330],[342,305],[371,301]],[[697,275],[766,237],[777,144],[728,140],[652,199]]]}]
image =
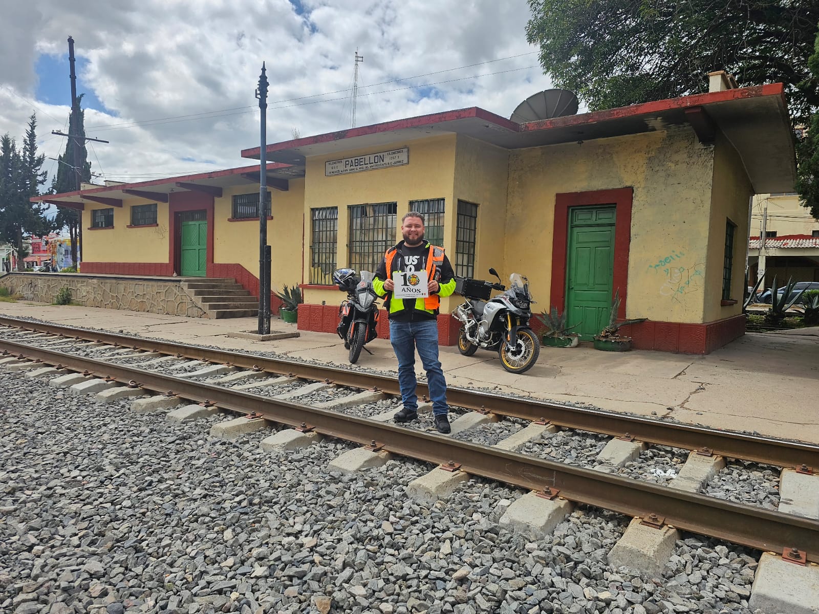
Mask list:
[{"label": "higher red-edged roof overhang above the PABELLON sign and right green door", "polygon": [[[421,115],[314,137],[272,143],[267,158],[304,172],[310,156],[342,156],[354,149],[394,148],[436,134],[456,133],[506,149],[621,137],[690,125],[700,142],[721,131],[734,145],[757,193],[792,192],[794,137],[782,84],[729,89],[617,109],[517,124],[478,107]],[[260,148],[242,151],[259,158]]]}]

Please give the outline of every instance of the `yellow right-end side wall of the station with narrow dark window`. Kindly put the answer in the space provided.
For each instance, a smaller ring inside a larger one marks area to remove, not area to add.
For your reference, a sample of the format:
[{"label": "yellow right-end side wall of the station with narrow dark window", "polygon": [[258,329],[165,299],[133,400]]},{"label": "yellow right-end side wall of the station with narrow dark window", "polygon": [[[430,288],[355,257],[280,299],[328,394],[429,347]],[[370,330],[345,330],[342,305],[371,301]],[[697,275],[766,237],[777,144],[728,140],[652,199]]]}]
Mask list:
[{"label": "yellow right-end side wall of the station with narrow dark window", "polygon": [[[748,247],[748,205],[752,189],[740,156],[722,133],[714,142],[713,190],[708,227],[708,255],[705,271],[704,322],[713,322],[742,313],[745,296],[745,250]],[[734,229],[731,299],[736,305],[720,306],[722,300],[722,269],[725,259],[726,219],[736,224]]]}]

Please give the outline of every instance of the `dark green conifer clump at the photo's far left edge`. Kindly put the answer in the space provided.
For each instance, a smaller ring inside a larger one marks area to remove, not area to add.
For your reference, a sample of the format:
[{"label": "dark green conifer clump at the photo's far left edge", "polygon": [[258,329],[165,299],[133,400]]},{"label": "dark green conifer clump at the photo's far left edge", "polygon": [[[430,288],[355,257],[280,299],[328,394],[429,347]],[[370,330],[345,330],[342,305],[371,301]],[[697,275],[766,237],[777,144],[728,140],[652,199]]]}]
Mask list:
[{"label": "dark green conifer clump at the photo's far left edge", "polygon": [[29,201],[37,196],[45,182],[45,156],[37,155],[37,117],[29,117],[23,147],[17,150],[16,141],[8,133],[0,138],[0,238],[14,246],[17,268],[24,268],[27,249],[25,235],[42,235],[52,228],[45,215],[45,205]]}]

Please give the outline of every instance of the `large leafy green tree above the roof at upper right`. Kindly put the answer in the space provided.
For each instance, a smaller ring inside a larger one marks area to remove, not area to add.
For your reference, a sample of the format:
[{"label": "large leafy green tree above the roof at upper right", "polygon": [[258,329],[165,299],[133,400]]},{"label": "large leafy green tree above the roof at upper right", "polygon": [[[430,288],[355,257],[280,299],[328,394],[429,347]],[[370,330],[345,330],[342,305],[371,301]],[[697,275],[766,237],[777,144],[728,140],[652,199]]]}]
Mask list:
[{"label": "large leafy green tree above the roof at upper right", "polygon": [[[592,111],[708,91],[726,70],[740,86],[785,84],[798,191],[819,219],[817,0],[529,0],[527,41],[554,84]],[[810,58],[810,60],[809,60]]]}]

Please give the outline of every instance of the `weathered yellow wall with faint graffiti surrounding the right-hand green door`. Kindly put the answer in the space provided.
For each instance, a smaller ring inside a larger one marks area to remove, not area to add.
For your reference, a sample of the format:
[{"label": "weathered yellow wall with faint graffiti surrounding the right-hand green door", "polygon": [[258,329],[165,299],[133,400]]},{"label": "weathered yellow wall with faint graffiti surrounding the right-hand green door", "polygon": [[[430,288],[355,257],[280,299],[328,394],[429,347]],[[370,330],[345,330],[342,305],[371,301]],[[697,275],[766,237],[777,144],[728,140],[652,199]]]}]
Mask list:
[{"label": "weathered yellow wall with faint graffiti surrounding the right-hand green door", "polygon": [[555,195],[633,187],[627,317],[704,322],[712,171],[686,127],[513,151],[504,272],[549,309]]}]

